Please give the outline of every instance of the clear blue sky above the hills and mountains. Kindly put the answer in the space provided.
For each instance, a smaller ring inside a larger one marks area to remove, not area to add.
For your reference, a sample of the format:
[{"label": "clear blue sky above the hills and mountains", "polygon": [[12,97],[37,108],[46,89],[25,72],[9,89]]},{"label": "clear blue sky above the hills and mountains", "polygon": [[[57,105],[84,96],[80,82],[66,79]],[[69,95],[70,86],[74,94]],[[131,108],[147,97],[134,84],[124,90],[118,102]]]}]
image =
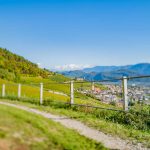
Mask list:
[{"label": "clear blue sky above the hills and mountains", "polygon": [[150,62],[150,1],[0,0],[0,47],[46,68]]}]

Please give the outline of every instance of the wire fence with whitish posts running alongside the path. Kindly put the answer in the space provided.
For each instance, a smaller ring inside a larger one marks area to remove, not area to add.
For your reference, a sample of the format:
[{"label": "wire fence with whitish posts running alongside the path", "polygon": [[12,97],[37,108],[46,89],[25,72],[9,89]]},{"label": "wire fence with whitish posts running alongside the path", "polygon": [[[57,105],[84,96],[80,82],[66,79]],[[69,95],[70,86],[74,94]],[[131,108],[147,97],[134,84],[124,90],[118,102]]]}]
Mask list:
[{"label": "wire fence with whitish posts running alongside the path", "polygon": [[1,83],[0,91],[2,98],[31,99],[40,104],[55,101],[102,109],[105,106],[104,108],[111,110],[117,108],[117,110],[127,111],[135,103],[150,104],[150,76],[91,82]]}]

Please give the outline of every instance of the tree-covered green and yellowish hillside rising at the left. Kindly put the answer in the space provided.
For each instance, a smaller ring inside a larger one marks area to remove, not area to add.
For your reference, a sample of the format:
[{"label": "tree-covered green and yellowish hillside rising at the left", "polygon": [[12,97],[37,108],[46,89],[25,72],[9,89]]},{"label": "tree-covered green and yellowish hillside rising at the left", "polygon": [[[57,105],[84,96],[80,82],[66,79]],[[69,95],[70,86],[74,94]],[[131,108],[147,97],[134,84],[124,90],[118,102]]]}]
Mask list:
[{"label": "tree-covered green and yellowish hillside rising at the left", "polygon": [[62,75],[55,74],[47,69],[41,69],[37,64],[24,57],[18,56],[7,49],[0,48],[0,78],[19,82],[22,76],[51,78],[56,81],[67,80]]}]

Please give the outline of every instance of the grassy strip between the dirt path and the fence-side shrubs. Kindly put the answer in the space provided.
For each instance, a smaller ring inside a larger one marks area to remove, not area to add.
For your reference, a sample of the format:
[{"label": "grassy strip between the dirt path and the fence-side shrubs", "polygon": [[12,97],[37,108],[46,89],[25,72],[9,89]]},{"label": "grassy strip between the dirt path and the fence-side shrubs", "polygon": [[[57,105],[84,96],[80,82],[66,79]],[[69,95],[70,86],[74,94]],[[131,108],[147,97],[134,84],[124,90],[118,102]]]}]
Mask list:
[{"label": "grassy strip between the dirt path and the fence-side shrubs", "polygon": [[[9,102],[11,102],[9,100]],[[65,109],[55,106],[38,106],[29,103],[22,102],[14,102],[16,104],[27,105],[32,108],[37,108],[39,110],[43,110],[46,112],[51,112],[54,114],[65,115],[71,118],[75,118],[84,122],[90,127],[96,128],[104,133],[111,134],[113,136],[119,136],[120,138],[132,140],[133,143],[141,142],[146,147],[150,147],[150,132],[135,130],[132,127],[113,123],[111,121],[106,121],[102,118],[97,118],[95,115],[88,113],[88,109],[86,111],[76,111],[74,109]]]}]

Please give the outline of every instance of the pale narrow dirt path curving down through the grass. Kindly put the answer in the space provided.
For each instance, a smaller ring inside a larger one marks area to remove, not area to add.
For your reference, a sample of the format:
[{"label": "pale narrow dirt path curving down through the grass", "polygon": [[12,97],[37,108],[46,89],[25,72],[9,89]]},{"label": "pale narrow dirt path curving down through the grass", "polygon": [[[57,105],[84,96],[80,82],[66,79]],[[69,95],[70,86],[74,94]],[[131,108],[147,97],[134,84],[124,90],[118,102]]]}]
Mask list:
[{"label": "pale narrow dirt path curving down through the grass", "polygon": [[51,119],[55,122],[59,122],[60,124],[64,125],[67,128],[74,129],[78,131],[81,135],[84,135],[90,139],[94,139],[98,142],[101,142],[105,145],[105,147],[110,149],[120,149],[120,150],[147,150],[147,148],[142,148],[141,144],[132,145],[129,141],[122,140],[118,137],[112,137],[110,135],[104,134],[98,130],[89,128],[88,126],[84,125],[80,121],[76,121],[74,119],[69,119],[67,117],[62,117],[58,115],[53,115],[51,113],[46,113],[43,111],[39,111],[36,109],[32,109],[26,106],[11,104],[7,102],[0,102],[0,104],[19,108],[28,112],[32,112],[38,115],[41,115],[45,118]]}]

